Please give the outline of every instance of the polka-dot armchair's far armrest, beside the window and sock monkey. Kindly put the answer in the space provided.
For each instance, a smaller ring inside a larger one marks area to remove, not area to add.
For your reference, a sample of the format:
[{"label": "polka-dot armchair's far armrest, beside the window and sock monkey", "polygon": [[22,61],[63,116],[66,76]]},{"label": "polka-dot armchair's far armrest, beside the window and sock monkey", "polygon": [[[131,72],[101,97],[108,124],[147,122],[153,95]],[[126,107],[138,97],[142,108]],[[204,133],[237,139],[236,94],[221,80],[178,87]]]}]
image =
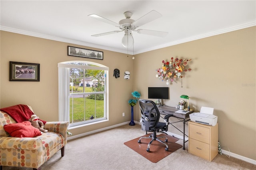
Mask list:
[{"label": "polka-dot armchair's far armrest, beside the window and sock monkey", "polygon": [[46,122],[44,129],[62,134],[64,138],[67,138],[68,122]]}]

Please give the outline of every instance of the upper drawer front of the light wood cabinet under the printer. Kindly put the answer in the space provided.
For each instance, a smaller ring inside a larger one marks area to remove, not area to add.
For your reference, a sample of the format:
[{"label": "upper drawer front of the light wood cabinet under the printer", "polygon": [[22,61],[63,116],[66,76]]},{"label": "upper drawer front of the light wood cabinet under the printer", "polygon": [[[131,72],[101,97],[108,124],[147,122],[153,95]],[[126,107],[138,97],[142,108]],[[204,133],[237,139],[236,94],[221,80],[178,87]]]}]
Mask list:
[{"label": "upper drawer front of the light wood cabinet under the printer", "polygon": [[210,144],[210,128],[190,124],[189,138]]}]

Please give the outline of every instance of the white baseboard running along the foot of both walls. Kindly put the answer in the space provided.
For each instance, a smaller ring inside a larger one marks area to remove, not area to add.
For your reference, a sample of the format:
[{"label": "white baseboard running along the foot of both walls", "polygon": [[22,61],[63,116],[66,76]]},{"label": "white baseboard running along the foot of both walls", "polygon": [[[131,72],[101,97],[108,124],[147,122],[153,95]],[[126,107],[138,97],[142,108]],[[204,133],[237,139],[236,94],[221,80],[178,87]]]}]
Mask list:
[{"label": "white baseboard running along the foot of both walls", "polygon": [[[93,134],[93,133],[96,133],[96,132],[101,132],[103,130],[108,130],[108,129],[111,129],[111,128],[115,128],[115,127],[119,127],[119,126],[122,126],[122,125],[127,125],[130,121],[128,122],[124,122],[124,123],[120,123],[120,124],[117,124],[117,125],[113,125],[113,126],[110,126],[110,127],[105,127],[105,128],[100,128],[100,129],[97,129],[97,130],[93,130],[93,131],[90,131],[90,132],[86,132],[86,133],[82,133],[82,134],[78,134],[78,135],[74,135],[74,136],[70,136],[68,137],[67,140],[72,140],[72,139],[75,139],[75,138],[80,138],[80,137],[83,137],[83,136],[86,136],[86,135],[89,135],[89,134]],[[134,121],[135,123],[140,124],[140,122],[137,122],[137,121]],[[183,136],[180,136],[178,134],[174,134],[172,132],[166,132],[168,135],[170,136],[174,136],[175,138],[179,138],[181,140],[183,140]],[[187,137],[185,137],[185,140],[188,140]],[[256,160],[253,160],[253,159],[250,159],[250,158],[246,158],[244,156],[241,156],[241,155],[238,155],[238,154],[234,154],[232,152],[229,152],[229,151],[226,151],[226,150],[223,150],[222,149],[222,154],[225,154],[227,156],[232,156],[234,158],[237,158],[237,159],[240,159],[240,160],[243,160],[245,162],[249,162],[251,164],[254,164],[256,165]]]}]

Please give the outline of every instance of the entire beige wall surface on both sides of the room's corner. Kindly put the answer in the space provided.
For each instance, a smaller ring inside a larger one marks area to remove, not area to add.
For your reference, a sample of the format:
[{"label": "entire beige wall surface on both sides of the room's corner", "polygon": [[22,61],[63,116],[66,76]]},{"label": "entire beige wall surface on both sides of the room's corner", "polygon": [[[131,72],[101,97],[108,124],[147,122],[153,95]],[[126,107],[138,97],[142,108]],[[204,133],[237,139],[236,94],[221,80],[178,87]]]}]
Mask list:
[{"label": "entire beige wall surface on both sides of the room's corner", "polygon": [[[67,55],[68,45],[94,49],[91,47],[1,31],[0,107],[29,104],[41,119],[57,121],[57,63],[71,60],[98,62],[110,68],[110,121],[70,130],[73,134],[130,121],[127,102],[132,91],[139,91],[141,98],[147,99],[149,86],[170,87],[170,100],[164,100],[165,105],[175,106],[180,101],[179,96],[185,94],[191,97],[190,106],[196,111],[202,106],[213,107],[214,115],[218,116],[221,146],[256,160],[255,32],[256,27],[246,28],[137,54],[134,60],[123,53],[95,49],[104,52],[104,60],[96,60]],[[179,80],[177,84],[166,85],[155,77],[155,70],[161,67],[162,60],[170,60],[170,57],[192,59],[189,63],[192,71],[186,73],[183,88]],[[40,82],[9,81],[9,61],[40,63]],[[112,77],[115,68],[120,69],[118,79]],[[130,80],[123,78],[126,70],[131,72]],[[134,120],[138,121],[138,105],[134,109]],[[126,113],[125,117],[122,112]],[[169,131],[176,132],[173,128]]]}]

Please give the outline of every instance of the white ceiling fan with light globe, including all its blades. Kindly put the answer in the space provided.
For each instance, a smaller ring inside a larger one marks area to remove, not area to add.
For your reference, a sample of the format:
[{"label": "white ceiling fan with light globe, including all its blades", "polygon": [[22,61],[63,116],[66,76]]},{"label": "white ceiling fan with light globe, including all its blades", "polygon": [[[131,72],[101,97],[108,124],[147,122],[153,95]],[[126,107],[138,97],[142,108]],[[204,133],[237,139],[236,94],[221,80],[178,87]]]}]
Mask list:
[{"label": "white ceiling fan with light globe, including all its blades", "polygon": [[144,29],[136,30],[139,26],[147,24],[148,22],[156,20],[157,18],[160,18],[162,16],[159,12],[155,10],[148,12],[147,14],[145,14],[144,16],[142,16],[136,21],[130,19],[132,16],[132,12],[126,11],[124,12],[124,16],[126,19],[120,20],[119,23],[103,18],[102,16],[98,16],[97,14],[90,14],[88,16],[95,18],[97,20],[100,20],[102,22],[105,22],[107,24],[111,24],[121,29],[121,31],[118,30],[118,31],[105,32],[101,34],[95,34],[95,35],[92,35],[93,37],[106,36],[109,34],[114,34],[114,33],[119,33],[124,31],[125,34],[124,34],[124,37],[122,38],[122,45],[124,47],[130,47],[134,43],[133,37],[132,37],[132,31],[135,31],[139,34],[147,34],[150,36],[158,36],[158,37],[165,37],[168,34],[168,32],[162,32],[162,31],[144,30]]}]

